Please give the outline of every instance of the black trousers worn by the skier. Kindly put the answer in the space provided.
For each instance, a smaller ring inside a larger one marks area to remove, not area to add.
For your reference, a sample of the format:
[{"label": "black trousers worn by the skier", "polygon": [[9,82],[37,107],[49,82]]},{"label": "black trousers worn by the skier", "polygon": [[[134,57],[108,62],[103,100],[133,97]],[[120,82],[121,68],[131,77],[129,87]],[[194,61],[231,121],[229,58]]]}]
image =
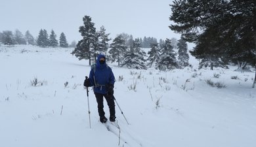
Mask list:
[{"label": "black trousers worn by the skier", "polygon": [[106,99],[106,101],[108,103],[108,108],[110,109],[110,116],[116,116],[114,98],[108,96],[107,94],[102,94],[102,93],[96,93],[95,92],[96,101],[98,103],[98,115],[100,117],[105,115],[105,112],[103,110],[103,108],[104,108],[103,96],[105,97],[105,99]]}]

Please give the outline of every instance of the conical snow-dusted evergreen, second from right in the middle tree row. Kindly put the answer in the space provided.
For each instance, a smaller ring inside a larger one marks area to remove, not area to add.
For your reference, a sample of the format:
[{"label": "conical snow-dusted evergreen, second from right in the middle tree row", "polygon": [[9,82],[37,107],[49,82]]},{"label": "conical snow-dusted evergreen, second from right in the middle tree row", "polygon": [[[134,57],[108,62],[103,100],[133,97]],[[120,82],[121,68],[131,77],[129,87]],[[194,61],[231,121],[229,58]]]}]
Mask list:
[{"label": "conical snow-dusted evergreen, second from right in the middle tree row", "polygon": [[177,54],[173,50],[170,39],[165,40],[165,44],[161,51],[160,59],[156,65],[157,69],[165,71],[167,69],[175,69],[179,67],[175,57]]}]

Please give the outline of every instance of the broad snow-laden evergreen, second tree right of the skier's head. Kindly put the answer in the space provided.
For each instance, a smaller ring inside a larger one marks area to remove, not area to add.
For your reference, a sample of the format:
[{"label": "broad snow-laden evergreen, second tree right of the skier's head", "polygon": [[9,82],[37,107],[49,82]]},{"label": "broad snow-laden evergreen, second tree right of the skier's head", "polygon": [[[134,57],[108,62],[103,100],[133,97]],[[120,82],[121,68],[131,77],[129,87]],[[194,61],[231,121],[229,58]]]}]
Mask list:
[{"label": "broad snow-laden evergreen, second tree right of the skier's head", "polygon": [[129,69],[147,69],[144,56],[146,56],[146,52],[141,50],[140,40],[135,39],[133,46],[125,53],[121,67],[126,66]]}]

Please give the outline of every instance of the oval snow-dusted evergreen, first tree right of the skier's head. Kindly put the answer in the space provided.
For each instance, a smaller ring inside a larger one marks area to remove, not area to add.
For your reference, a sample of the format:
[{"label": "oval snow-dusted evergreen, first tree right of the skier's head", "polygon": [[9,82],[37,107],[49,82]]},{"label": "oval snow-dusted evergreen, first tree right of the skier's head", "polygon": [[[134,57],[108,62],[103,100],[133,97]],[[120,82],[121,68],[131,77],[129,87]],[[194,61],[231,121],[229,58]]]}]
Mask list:
[{"label": "oval snow-dusted evergreen, first tree right of the skier's head", "polygon": [[125,39],[121,35],[118,35],[112,44],[110,44],[110,61],[117,61],[118,66],[120,66],[121,59],[123,59],[123,55],[127,52],[127,46],[125,45]]}]

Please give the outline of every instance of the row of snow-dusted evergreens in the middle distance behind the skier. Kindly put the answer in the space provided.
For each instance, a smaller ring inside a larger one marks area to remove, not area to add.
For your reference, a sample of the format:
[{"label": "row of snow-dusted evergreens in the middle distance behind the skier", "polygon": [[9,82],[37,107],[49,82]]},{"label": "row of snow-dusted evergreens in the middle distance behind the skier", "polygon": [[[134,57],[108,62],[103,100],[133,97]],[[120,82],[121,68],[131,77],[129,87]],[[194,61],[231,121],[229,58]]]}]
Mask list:
[{"label": "row of snow-dusted evergreens in the middle distance behind the skier", "polygon": [[[83,25],[79,27],[79,32],[83,39],[77,43],[71,54],[79,60],[89,59],[89,65],[95,63],[96,56],[101,53],[106,54],[108,61],[116,61],[119,67],[131,69],[147,69],[154,66],[165,71],[189,65],[188,46],[183,38],[178,42],[176,39],[165,39],[158,43],[153,37],[133,39],[132,35],[121,33],[108,44],[111,40],[108,37],[110,33],[106,33],[104,26],[97,31],[90,16],[83,17]],[[146,53],[142,48],[148,46],[150,51]],[[178,53],[173,50],[174,46],[179,50]]]}]

